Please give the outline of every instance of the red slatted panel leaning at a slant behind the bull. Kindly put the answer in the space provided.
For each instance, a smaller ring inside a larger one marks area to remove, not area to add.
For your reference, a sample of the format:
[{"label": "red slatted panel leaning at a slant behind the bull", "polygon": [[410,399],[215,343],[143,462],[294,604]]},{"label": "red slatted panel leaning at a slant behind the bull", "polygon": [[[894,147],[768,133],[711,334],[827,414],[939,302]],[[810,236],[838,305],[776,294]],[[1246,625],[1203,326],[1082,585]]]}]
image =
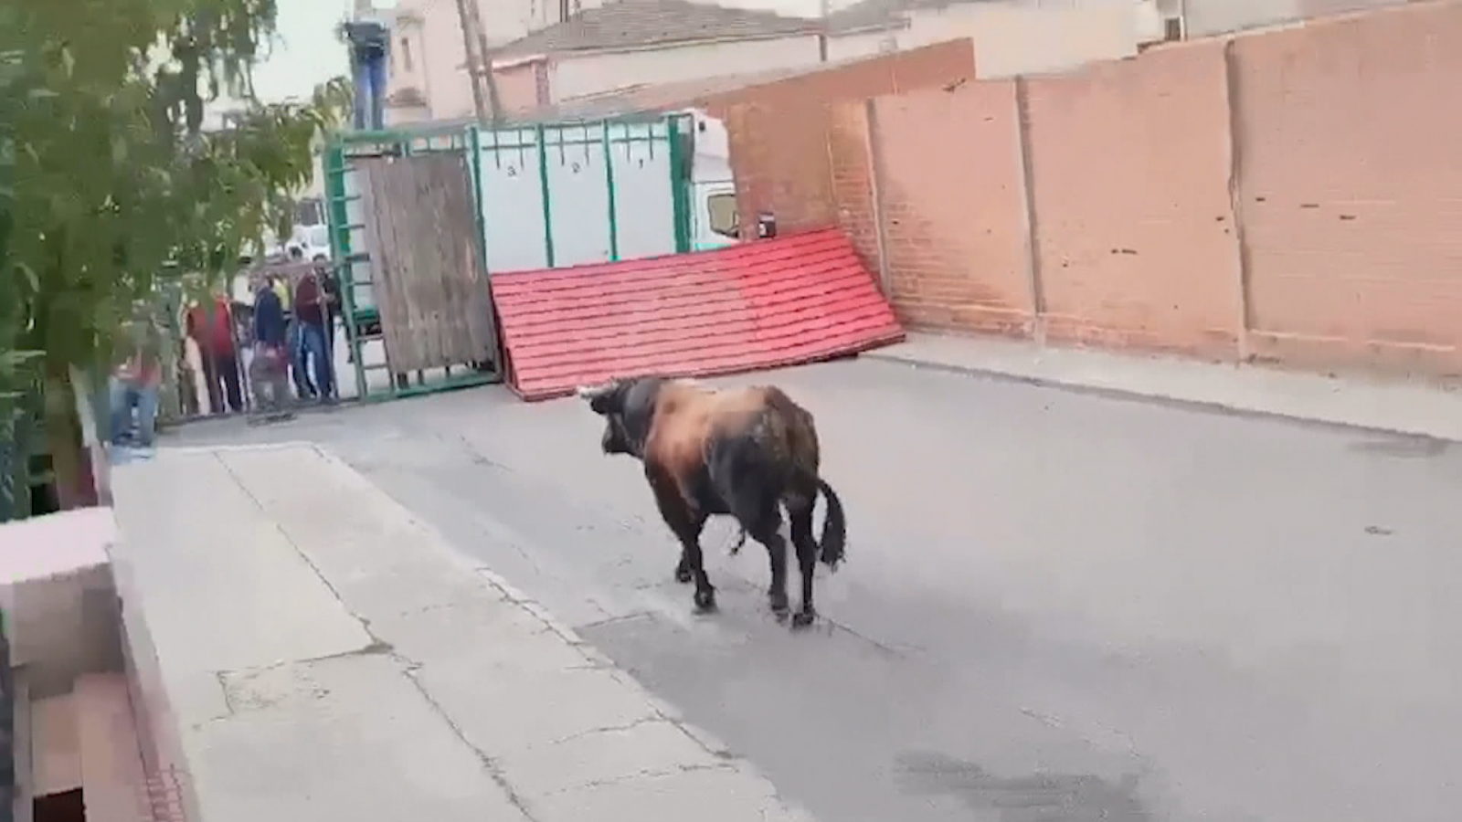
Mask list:
[{"label": "red slatted panel leaning at a slant behind the bull", "polygon": [[493,275],[523,399],[618,376],[713,376],[855,354],[904,328],[836,228],[699,252]]}]

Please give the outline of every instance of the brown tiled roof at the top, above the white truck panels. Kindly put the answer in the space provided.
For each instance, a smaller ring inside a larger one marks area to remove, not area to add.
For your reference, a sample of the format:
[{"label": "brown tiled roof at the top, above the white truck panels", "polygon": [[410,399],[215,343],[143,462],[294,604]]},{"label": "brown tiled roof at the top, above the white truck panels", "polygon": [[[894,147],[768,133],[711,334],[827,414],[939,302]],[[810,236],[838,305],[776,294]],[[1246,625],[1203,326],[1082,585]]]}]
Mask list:
[{"label": "brown tiled roof at the top, above the white truck panels", "polygon": [[579,12],[494,51],[494,59],[608,51],[706,39],[760,39],[820,34],[822,20],[724,9],[687,0],[620,0]]}]

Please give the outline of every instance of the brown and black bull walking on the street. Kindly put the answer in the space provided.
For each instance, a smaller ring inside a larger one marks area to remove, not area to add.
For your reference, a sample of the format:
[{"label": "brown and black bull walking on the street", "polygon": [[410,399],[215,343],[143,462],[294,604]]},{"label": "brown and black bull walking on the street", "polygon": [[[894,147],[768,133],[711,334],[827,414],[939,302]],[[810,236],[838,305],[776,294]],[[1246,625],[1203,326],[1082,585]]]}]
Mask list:
[{"label": "brown and black bull walking on the street", "polygon": [[[772,566],[768,591],[772,611],[785,617],[787,541],[782,506],[803,576],[803,606],[794,627],[813,623],[813,572],[820,559],[836,569],[844,559],[846,522],[842,502],[819,475],[813,415],[770,386],[713,391],[690,380],[636,377],[579,396],[605,420],[605,453],[627,453],[645,465],[659,513],[680,540],[675,579],[694,581],[694,604],[715,608],[715,587],[706,578],[700,531],[712,515],[731,515],[766,546]],[[813,538],[813,506],[827,500],[822,540]],[[740,548],[740,543],[737,548]]]}]

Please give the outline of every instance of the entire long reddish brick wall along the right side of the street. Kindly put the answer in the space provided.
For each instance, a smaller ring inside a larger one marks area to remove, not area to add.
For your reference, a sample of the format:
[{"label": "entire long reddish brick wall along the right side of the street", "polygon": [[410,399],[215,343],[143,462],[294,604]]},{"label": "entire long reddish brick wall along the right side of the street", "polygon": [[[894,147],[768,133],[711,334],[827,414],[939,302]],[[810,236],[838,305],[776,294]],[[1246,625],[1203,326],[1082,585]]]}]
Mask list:
[{"label": "entire long reddish brick wall along the right side of the street", "polygon": [[841,224],[915,328],[1459,376],[1458,88],[1462,1],[1417,3],[732,105],[732,167],[747,216]]}]

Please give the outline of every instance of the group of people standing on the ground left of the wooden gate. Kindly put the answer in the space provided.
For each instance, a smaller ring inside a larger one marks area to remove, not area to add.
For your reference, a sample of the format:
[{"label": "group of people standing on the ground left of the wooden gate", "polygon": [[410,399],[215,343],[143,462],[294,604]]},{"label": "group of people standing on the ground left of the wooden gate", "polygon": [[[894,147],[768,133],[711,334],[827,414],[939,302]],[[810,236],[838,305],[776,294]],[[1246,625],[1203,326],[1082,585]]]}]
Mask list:
[{"label": "group of people standing on the ground left of the wooden gate", "polygon": [[[288,388],[281,389],[288,385],[285,374],[292,377],[297,399],[336,401],[333,329],[341,314],[339,287],[323,269],[308,269],[294,282],[289,279],[268,275],[254,293],[251,312],[243,304],[235,310],[222,295],[212,295],[186,312],[187,338],[197,348],[209,408],[215,414],[244,411],[243,374],[250,376],[256,407],[265,411],[287,405]],[[156,431],[167,344],[145,307],[139,307],[121,331],[110,380],[110,439],[113,445],[146,450]],[[181,399],[192,408],[197,405],[193,369],[186,348],[178,354]]]}]

